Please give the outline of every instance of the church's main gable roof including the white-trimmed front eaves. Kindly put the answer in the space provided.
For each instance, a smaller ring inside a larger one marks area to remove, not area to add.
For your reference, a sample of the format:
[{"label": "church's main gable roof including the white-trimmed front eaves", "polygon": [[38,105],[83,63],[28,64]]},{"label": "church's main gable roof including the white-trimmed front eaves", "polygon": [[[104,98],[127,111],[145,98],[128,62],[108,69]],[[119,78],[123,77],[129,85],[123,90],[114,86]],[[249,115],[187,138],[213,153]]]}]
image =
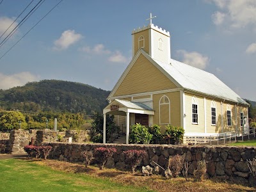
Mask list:
[{"label": "church's main gable roof including the white-trimmed front eaves", "polygon": [[168,77],[170,81],[176,84],[177,87],[188,90],[189,92],[209,95],[211,97],[217,97],[218,99],[230,100],[232,102],[249,106],[244,99],[237,95],[237,93],[231,90],[225,83],[220,81],[220,79],[213,74],[173,59],[170,59],[170,63],[163,63],[161,61],[154,60],[143,49],[140,49],[134,58],[132,58],[132,61],[129,63],[128,67],[115,84],[112,92],[109,94],[108,99],[113,97],[140,54],[143,54],[143,56],[145,56],[155,67],[163,72],[163,74]]}]

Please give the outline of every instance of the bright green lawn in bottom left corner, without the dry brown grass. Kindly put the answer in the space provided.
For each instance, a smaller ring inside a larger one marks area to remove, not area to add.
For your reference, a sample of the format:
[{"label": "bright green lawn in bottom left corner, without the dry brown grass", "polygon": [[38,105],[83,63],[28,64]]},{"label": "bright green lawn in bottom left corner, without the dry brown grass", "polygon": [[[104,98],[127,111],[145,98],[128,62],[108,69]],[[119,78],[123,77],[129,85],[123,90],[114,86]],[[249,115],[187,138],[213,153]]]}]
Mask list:
[{"label": "bright green lawn in bottom left corner, without the dry brown grass", "polygon": [[20,159],[0,160],[0,191],[150,191],[123,186],[85,173],[52,170]]}]

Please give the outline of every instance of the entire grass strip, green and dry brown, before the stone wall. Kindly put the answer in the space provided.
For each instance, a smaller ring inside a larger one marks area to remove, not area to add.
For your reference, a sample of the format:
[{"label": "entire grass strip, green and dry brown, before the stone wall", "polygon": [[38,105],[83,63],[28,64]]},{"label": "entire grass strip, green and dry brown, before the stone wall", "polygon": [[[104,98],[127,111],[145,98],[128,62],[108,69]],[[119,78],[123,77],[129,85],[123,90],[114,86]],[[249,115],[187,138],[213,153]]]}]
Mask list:
[{"label": "entire grass strip, green and dry brown, before the stone wall", "polygon": [[160,175],[143,177],[115,169],[85,168],[81,164],[56,160],[0,160],[0,191],[256,191],[238,184]]}]

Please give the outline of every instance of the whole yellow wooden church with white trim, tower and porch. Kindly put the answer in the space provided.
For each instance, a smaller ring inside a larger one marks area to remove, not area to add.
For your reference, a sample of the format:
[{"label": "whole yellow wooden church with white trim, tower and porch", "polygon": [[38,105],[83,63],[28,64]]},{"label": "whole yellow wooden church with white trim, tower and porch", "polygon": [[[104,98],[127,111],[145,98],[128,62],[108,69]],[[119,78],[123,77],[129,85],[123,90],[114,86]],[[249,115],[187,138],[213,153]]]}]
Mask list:
[{"label": "whole yellow wooden church with white trim, tower and porch", "polygon": [[115,115],[129,143],[132,124],[184,127],[183,142],[248,130],[249,104],[216,76],[173,60],[170,33],[152,24],[132,31],[132,60],[108,96],[106,115]]}]

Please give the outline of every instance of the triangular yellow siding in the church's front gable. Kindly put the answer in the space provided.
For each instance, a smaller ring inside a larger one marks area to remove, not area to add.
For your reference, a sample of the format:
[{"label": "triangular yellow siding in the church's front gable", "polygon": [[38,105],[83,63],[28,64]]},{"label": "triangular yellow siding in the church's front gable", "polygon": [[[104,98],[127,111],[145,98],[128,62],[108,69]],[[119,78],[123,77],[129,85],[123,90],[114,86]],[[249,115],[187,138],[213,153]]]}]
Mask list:
[{"label": "triangular yellow siding in the church's front gable", "polygon": [[140,55],[116,90],[114,97],[177,88],[145,56]]}]

